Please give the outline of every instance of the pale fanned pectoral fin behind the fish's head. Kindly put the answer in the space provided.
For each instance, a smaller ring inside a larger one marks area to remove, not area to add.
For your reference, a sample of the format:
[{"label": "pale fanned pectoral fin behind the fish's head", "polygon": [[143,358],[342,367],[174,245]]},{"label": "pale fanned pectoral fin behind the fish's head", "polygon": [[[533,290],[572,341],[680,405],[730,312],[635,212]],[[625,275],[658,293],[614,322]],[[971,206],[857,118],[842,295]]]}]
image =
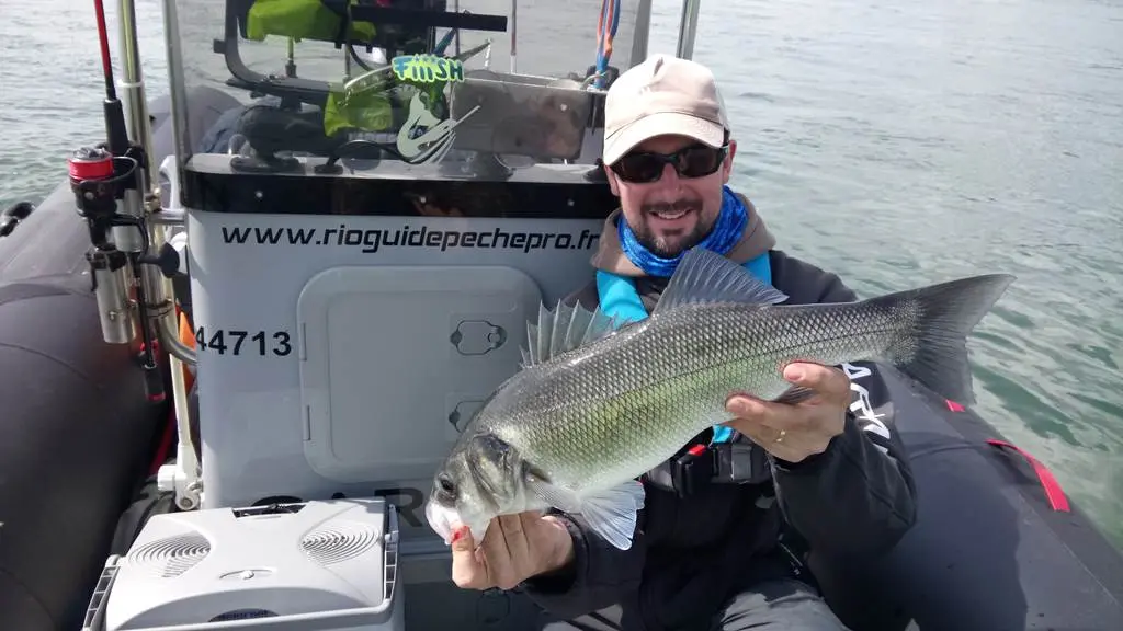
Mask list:
[{"label": "pale fanned pectoral fin behind the fish's head", "polygon": [[530,490],[565,513],[579,514],[588,528],[621,550],[631,548],[637,513],[643,507],[643,485],[630,479],[596,494],[578,497],[572,491],[531,476]]}]

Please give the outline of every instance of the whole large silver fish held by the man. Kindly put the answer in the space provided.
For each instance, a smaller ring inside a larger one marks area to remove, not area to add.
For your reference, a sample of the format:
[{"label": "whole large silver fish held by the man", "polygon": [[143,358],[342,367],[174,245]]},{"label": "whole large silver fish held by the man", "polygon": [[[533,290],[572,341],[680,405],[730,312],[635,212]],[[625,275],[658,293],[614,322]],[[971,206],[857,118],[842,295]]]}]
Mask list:
[{"label": "whole large silver fish held by the man", "polygon": [[484,403],[433,478],[426,505],[446,542],[492,518],[549,506],[631,546],[636,481],[704,429],[737,391],[806,396],[794,360],[880,360],[934,392],[974,402],[966,338],[1014,281],[984,275],[853,303],[787,296],[709,250],[688,250],[651,314],[615,328],[600,309],[540,309],[523,367]]}]

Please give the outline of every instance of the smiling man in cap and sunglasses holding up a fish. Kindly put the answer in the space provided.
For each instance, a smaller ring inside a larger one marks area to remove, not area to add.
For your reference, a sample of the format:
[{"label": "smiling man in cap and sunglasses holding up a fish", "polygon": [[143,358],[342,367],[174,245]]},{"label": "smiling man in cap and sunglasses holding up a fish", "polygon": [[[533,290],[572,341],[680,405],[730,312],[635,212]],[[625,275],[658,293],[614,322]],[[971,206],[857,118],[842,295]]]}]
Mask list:
[{"label": "smiling man in cap and sunglasses holding up a fish", "polygon": [[[570,299],[646,317],[681,253],[701,244],[788,303],[856,300],[833,274],[772,249],[752,205],[727,186],[736,150],[704,66],[655,56],[623,73],[608,94],[603,153],[621,208],[593,257],[595,281]],[[915,507],[903,446],[873,409],[885,397],[876,367],[843,368],[786,366],[785,378],[813,391],[795,403],[730,393],[734,420],[643,476],[630,549],[579,515],[503,516],[478,550],[471,536],[454,541],[454,580],[520,587],[565,621],[549,630],[844,629],[804,552],[862,563],[901,539]]]}]

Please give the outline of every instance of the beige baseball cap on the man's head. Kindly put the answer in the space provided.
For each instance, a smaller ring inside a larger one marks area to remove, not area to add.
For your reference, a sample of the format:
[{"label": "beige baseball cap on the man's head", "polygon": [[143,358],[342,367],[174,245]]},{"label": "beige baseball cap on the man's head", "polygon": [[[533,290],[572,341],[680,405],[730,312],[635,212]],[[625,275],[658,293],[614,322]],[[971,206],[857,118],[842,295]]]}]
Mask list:
[{"label": "beige baseball cap on the man's head", "polygon": [[605,97],[604,164],[663,135],[720,147],[729,128],[713,73],[672,55],[652,55],[620,74]]}]

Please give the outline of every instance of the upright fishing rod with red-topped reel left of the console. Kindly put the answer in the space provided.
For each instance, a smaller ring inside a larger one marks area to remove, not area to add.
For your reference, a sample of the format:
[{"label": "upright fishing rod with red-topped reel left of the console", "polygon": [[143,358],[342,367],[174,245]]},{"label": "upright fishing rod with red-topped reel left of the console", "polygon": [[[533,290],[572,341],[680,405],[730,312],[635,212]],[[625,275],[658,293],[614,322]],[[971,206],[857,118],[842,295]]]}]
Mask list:
[{"label": "upright fishing rod with red-topped reel left of the console", "polygon": [[[145,393],[149,401],[164,401],[163,375],[157,358],[158,319],[174,308],[168,294],[150,281],[174,269],[174,252],[161,248],[154,256],[153,236],[146,221],[149,207],[158,207],[158,195],[150,188],[152,156],[148,113],[144,86],[139,81],[139,58],[136,45],[136,15],[131,0],[120,1],[125,92],[129,101],[131,136],[126,112],[117,95],[112,61],[109,52],[109,29],[102,0],[94,0],[98,44],[101,52],[106,98],[102,112],[106,141],[83,146],[67,159],[71,191],[76,212],[85,219],[91,247],[85,258],[98,303],[102,339],[106,344],[130,345],[139,336],[139,362],[144,373]],[[159,244],[164,246],[164,244]],[[155,269],[152,269],[155,267]],[[163,280],[163,278],[161,278]],[[155,289],[154,289],[155,285]],[[176,340],[177,341],[177,340]]]}]

